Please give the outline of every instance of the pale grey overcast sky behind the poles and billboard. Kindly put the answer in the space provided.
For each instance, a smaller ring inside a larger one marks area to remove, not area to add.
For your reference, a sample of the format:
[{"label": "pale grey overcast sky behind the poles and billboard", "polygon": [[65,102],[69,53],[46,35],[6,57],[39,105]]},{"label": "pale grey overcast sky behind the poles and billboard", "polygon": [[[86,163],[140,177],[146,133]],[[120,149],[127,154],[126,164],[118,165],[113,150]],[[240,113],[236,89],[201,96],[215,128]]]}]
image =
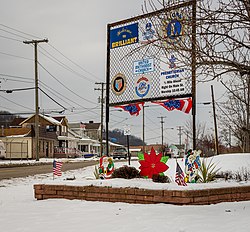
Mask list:
[{"label": "pale grey overcast sky behind the poles and billboard", "polygon": [[[99,86],[105,82],[106,28],[108,23],[142,14],[143,0],[2,0],[0,9],[0,87],[34,87],[34,46],[23,41],[47,38],[38,47],[41,112],[60,111],[70,122],[100,121]],[[197,86],[197,102],[211,100],[210,83]],[[216,93],[216,88],[215,88]],[[221,94],[221,93],[220,93]],[[34,90],[12,94],[0,92],[0,110],[12,113],[34,111]],[[61,105],[61,106],[60,106]],[[197,118],[211,127],[210,106],[197,105]],[[112,111],[112,110],[111,110]],[[58,115],[58,114],[52,114]],[[147,143],[179,143],[177,126],[184,126],[191,114],[167,112],[161,106],[145,109]],[[142,116],[111,112],[110,129],[128,124],[132,134],[142,137]],[[184,135],[182,139],[184,140]]]}]

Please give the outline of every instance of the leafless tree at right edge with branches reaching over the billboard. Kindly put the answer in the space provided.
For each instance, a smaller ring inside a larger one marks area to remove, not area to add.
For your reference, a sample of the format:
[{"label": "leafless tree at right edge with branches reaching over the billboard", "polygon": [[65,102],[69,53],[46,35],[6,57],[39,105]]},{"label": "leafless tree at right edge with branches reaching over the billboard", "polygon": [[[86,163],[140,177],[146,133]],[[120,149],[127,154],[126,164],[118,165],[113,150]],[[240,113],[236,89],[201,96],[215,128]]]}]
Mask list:
[{"label": "leafless tree at right edge with branches reaching over the billboard", "polygon": [[[144,10],[187,1],[146,1]],[[221,80],[228,100],[221,107],[223,126],[230,126],[245,152],[250,151],[250,2],[249,0],[197,1],[196,74],[197,81]],[[160,16],[161,20],[162,16]],[[188,22],[188,21],[187,21]],[[185,23],[185,22],[184,22]],[[184,35],[188,36],[188,35]],[[161,48],[165,38],[158,36]],[[158,46],[159,46],[158,41]],[[190,42],[190,41],[189,41]],[[180,40],[172,46],[190,65],[190,45]],[[169,49],[165,47],[165,52]],[[198,129],[197,129],[198,130]]]}]

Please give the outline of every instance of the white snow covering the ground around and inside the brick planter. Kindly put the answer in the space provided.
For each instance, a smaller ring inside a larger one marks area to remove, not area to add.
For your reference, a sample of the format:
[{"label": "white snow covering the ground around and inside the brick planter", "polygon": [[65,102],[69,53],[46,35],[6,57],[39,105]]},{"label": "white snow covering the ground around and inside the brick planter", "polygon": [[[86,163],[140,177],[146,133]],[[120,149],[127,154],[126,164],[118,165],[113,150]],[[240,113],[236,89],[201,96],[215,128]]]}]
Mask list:
[{"label": "white snow covering the ground around and inside the brick planter", "polygon": [[[175,160],[167,162],[166,174],[174,179]],[[181,166],[183,161],[178,160]],[[250,154],[220,155],[213,162],[221,171],[250,170]],[[127,163],[115,163],[116,167]],[[139,167],[137,161],[131,166]],[[94,180],[94,167],[72,170],[53,180],[52,173],[0,181],[0,228],[4,232],[79,232],[79,231],[153,231],[168,232],[249,232],[250,201],[208,206],[141,205],[88,202],[80,200],[34,199],[33,184],[135,186],[147,188],[185,188],[175,183],[160,184],[151,180]],[[74,181],[66,180],[75,177]],[[217,181],[189,184],[186,188],[250,185],[249,182]]]}]

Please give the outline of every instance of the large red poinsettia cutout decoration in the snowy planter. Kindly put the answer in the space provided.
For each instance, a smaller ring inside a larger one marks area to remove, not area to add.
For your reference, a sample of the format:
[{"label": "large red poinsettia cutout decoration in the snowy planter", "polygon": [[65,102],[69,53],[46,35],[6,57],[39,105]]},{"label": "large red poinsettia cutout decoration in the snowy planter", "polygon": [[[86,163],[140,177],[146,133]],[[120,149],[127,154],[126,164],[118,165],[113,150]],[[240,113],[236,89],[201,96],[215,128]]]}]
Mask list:
[{"label": "large red poinsettia cutout decoration in the snowy planter", "polygon": [[164,163],[167,159],[162,159],[162,153],[158,155],[155,153],[154,148],[151,148],[150,155],[144,153],[144,160],[139,160],[141,166],[140,175],[152,178],[154,174],[163,173],[168,170],[168,166]]}]

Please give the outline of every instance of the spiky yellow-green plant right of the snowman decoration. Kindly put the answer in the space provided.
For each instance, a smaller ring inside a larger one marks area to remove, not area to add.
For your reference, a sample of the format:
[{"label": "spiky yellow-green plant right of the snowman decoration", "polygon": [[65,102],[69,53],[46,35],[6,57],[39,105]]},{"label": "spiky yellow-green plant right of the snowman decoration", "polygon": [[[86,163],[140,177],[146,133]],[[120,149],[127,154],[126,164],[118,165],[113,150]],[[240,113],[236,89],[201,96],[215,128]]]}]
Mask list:
[{"label": "spiky yellow-green plant right of the snowman decoration", "polygon": [[208,183],[214,181],[219,170],[220,168],[217,168],[216,164],[212,162],[212,159],[209,162],[203,159],[198,169],[198,182]]}]

